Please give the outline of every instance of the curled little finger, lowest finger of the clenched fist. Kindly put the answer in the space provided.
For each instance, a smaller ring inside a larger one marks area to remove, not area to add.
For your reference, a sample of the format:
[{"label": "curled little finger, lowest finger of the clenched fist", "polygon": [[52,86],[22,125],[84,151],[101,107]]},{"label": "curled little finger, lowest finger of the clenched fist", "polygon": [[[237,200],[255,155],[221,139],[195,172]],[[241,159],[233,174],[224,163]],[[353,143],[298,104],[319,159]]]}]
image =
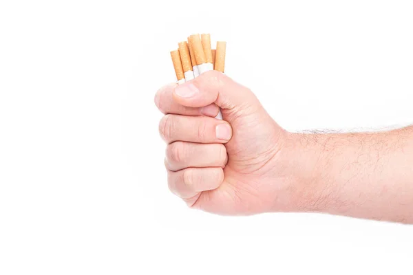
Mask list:
[{"label": "curled little finger, lowest finger of the clenched fist", "polygon": [[173,194],[191,199],[199,192],[218,188],[224,181],[222,168],[187,168],[178,172],[168,171],[168,186]]}]

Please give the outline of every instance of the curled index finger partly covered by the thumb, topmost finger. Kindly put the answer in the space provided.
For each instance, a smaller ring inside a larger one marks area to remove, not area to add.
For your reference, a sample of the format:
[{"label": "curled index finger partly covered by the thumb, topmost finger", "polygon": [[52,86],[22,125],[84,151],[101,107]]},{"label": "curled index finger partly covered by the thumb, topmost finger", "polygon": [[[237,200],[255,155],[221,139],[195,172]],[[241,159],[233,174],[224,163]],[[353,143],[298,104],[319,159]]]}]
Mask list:
[{"label": "curled index finger partly covered by the thumb, topmost finger", "polygon": [[160,88],[156,92],[155,104],[162,113],[174,113],[177,115],[207,115],[215,118],[219,111],[216,104],[207,104],[200,108],[187,107],[173,100],[172,94],[177,86],[177,83],[171,83]]}]

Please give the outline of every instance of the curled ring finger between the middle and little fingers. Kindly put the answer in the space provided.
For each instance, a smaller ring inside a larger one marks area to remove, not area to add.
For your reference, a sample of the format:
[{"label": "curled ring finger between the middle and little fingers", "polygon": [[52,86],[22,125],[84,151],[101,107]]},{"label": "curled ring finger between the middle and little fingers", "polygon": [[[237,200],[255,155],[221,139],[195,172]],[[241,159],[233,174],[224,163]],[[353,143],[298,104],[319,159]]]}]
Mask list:
[{"label": "curled ring finger between the middle and little fingers", "polygon": [[173,142],[167,146],[166,155],[165,165],[172,171],[188,167],[224,168],[227,160],[223,144]]}]

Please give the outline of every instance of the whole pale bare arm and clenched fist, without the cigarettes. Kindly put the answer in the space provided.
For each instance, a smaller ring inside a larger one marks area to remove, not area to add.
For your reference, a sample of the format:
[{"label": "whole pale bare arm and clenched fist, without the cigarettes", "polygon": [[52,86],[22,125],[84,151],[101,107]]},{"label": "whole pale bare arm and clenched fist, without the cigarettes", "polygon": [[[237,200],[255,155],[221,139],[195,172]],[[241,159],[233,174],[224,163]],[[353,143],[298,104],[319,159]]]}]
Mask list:
[{"label": "whole pale bare arm and clenched fist, without the cigarettes", "polygon": [[155,102],[169,189],[191,208],[413,223],[413,127],[289,133],[250,89],[216,71],[162,87]]}]

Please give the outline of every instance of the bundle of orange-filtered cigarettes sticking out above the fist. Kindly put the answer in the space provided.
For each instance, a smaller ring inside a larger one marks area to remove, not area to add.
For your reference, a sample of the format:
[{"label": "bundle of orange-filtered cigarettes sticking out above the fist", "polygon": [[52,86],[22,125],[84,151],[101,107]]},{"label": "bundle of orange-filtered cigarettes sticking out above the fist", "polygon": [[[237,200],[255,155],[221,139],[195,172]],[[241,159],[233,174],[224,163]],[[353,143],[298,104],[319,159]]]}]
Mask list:
[{"label": "bundle of orange-filtered cigarettes sticking out above the fist", "polygon": [[209,34],[192,34],[188,41],[178,43],[178,50],[171,52],[178,84],[213,69],[224,72],[225,50],[224,41],[218,41],[216,50],[212,50]]}]

